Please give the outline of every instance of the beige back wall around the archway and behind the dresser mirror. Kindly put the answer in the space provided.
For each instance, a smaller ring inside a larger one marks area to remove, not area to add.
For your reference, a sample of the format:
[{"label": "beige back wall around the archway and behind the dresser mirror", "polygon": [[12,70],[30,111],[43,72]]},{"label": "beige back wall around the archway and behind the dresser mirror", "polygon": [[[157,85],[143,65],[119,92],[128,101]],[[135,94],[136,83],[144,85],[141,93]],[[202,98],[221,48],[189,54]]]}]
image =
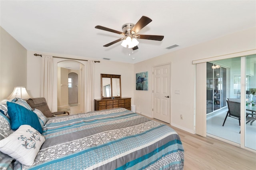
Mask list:
[{"label": "beige back wall around the archway and behind the dresser mirror", "polygon": [[[34,56],[34,53],[39,53],[42,55],[53,55],[59,57],[69,57],[77,59],[89,59],[74,55],[62,55],[56,53],[45,53],[41,51],[28,51],[28,89],[31,91],[32,97],[40,97],[40,74],[41,74],[41,57]],[[54,111],[57,111],[57,84],[58,84],[58,66],[57,63],[65,59],[54,58],[54,94],[53,94],[53,106]],[[86,67],[86,61],[79,61]],[[104,59],[100,60],[100,63],[95,63],[95,80],[94,80],[94,99],[100,99],[100,74],[117,74],[121,75],[121,90],[122,97],[132,97],[133,102],[133,90],[134,90],[134,65],[128,63],[106,61]]]}]

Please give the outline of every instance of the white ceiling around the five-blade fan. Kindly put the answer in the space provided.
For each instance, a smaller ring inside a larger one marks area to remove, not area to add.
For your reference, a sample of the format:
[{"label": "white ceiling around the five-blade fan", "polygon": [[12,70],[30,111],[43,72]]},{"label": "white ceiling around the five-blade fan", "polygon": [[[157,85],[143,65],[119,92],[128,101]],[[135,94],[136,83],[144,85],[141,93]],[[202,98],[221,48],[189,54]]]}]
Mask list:
[{"label": "white ceiling around the five-blade fan", "polygon": [[[174,50],[256,27],[256,1],[0,1],[0,25],[27,50],[110,58],[137,63]],[[122,38],[95,29],[97,25],[122,32],[122,25],[147,16],[153,21],[139,34],[162,35],[142,40],[139,49],[115,43]],[[171,45],[179,45],[166,49]],[[130,53],[130,55],[129,55]],[[134,58],[134,59],[133,59]]]}]

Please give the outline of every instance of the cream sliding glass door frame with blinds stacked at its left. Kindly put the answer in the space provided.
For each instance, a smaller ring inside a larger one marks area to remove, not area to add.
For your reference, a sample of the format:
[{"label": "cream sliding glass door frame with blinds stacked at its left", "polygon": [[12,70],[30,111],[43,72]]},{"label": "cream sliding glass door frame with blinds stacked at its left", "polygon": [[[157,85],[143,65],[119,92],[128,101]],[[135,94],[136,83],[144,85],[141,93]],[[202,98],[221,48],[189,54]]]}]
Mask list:
[{"label": "cream sliding glass door frame with blinds stacked at its left", "polygon": [[[192,61],[192,64],[196,65],[196,97],[195,97],[195,125],[196,134],[201,136],[206,136],[206,62],[216,61],[220,59],[228,59],[234,57],[241,57],[241,133],[240,133],[240,148],[244,148],[246,150],[250,150],[255,152],[255,150],[250,149],[245,146],[245,113],[246,113],[246,89],[245,89],[245,72],[246,72],[246,55],[256,54],[256,49],[241,51],[237,53],[230,53],[226,55],[219,55],[216,57],[208,57],[204,59],[198,59]],[[203,86],[204,85],[204,86]],[[204,103],[204,104],[203,104]],[[203,105],[202,105],[203,104]],[[220,139],[222,140],[222,139]],[[226,141],[226,140],[224,140]],[[229,141],[226,141],[229,142]],[[234,144],[234,142],[232,142]],[[236,145],[236,144],[235,144]]]}]

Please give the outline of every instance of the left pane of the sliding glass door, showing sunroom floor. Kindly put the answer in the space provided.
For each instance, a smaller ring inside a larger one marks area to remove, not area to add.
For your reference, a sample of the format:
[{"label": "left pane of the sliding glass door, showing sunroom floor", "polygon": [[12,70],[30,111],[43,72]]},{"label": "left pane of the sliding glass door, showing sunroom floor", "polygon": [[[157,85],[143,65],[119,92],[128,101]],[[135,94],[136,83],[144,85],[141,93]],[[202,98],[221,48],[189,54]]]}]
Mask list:
[{"label": "left pane of the sliding glass door, showing sunroom floor", "polygon": [[[206,132],[238,144],[240,144],[239,120],[226,118],[226,115],[228,113],[227,100],[240,98],[237,91],[241,90],[241,81],[236,79],[236,75],[241,73],[240,60],[241,57],[237,57],[206,63],[207,82],[208,79],[212,79],[213,83],[213,107],[212,110],[207,109],[206,111]],[[212,78],[210,74],[212,74]]]}]

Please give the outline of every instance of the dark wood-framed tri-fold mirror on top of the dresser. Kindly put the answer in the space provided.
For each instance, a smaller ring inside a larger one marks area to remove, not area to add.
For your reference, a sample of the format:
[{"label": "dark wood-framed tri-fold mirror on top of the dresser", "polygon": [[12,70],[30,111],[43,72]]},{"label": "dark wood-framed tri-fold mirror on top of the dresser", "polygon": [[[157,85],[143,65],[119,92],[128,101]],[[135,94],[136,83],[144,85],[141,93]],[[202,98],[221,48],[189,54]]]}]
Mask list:
[{"label": "dark wood-framed tri-fold mirror on top of the dresser", "polygon": [[100,74],[100,84],[102,99],[121,97],[121,75]]}]

